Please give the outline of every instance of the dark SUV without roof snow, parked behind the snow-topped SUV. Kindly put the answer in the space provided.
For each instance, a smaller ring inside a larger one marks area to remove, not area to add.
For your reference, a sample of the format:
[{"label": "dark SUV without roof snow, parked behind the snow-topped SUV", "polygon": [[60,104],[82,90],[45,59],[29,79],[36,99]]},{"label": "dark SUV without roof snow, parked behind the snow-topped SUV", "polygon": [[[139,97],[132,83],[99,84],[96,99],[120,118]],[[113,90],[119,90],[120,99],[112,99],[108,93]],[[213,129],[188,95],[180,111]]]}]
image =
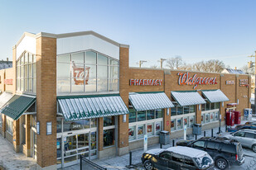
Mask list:
[{"label": "dark SUV without roof snow, parked behind the snow-topped SUV", "polygon": [[194,141],[183,140],[176,145],[204,150],[215,160],[219,169],[229,168],[230,165],[244,163],[244,153],[241,144],[233,139],[220,137],[203,137]]}]

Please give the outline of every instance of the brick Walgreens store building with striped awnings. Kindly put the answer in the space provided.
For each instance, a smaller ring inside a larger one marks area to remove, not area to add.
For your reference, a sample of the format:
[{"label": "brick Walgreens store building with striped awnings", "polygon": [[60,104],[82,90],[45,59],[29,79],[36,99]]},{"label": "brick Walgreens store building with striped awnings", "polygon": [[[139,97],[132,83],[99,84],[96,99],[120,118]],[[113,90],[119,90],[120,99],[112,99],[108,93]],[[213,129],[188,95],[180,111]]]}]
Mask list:
[{"label": "brick Walgreens store building with striped awnings", "polygon": [[24,33],[12,68],[0,70],[0,133],[38,168],[122,155],[171,138],[184,125],[225,124],[225,111],[250,107],[242,74],[129,68],[129,45],[94,31]]}]

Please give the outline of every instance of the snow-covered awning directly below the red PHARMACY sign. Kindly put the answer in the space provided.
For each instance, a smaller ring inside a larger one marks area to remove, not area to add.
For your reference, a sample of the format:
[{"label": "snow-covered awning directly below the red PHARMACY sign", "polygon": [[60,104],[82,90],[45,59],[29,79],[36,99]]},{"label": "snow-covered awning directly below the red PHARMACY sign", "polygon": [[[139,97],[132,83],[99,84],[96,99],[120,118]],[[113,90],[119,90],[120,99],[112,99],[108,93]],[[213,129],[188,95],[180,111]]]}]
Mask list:
[{"label": "snow-covered awning directly below the red PHARMACY sign", "polygon": [[164,92],[143,94],[131,92],[129,101],[136,111],[156,110],[174,106]]}]

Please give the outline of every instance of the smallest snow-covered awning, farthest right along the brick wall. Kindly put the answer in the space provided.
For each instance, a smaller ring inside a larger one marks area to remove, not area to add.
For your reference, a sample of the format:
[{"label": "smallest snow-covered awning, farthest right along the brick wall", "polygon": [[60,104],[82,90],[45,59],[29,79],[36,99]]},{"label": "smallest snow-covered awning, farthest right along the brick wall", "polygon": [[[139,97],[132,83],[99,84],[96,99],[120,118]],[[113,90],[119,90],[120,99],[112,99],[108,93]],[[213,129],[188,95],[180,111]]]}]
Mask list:
[{"label": "smallest snow-covered awning, farthest right along the brick wall", "polygon": [[229,98],[225,96],[221,90],[202,91],[203,95],[209,100],[209,102],[225,102],[229,101]]}]

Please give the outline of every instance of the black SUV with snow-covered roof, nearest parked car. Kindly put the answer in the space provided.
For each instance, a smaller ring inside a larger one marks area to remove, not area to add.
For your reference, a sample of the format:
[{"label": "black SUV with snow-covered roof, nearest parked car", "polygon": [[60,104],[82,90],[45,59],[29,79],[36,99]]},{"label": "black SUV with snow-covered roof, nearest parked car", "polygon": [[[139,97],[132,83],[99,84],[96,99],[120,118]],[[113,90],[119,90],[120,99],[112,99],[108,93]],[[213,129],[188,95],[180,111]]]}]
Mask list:
[{"label": "black SUV with snow-covered roof, nearest parked car", "polygon": [[142,154],[142,164],[146,170],[214,169],[214,161],[208,153],[183,146],[148,150]]}]

